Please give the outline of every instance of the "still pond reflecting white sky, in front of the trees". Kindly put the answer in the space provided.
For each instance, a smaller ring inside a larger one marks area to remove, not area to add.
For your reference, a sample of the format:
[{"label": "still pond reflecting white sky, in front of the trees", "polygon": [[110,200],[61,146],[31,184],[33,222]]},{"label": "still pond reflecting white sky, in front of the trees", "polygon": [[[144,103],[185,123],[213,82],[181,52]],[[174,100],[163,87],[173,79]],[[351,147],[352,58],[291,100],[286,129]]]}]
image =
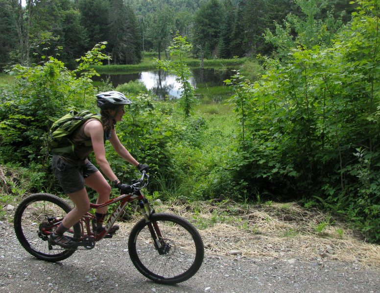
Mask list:
[{"label": "still pond reflecting white sky, in front of the trees", "polygon": [[[208,87],[223,85],[223,81],[229,79],[234,74],[232,69],[214,68],[204,68],[203,70],[201,68],[192,68],[191,73],[190,84],[194,88],[197,88],[201,84]],[[175,80],[176,76],[164,70],[142,71],[130,74],[102,74],[94,80],[105,81],[108,78],[115,88],[119,84],[140,81],[145,84],[148,90],[151,90],[161,99],[165,99],[167,96],[179,98],[182,92],[180,88],[181,84]]]}]

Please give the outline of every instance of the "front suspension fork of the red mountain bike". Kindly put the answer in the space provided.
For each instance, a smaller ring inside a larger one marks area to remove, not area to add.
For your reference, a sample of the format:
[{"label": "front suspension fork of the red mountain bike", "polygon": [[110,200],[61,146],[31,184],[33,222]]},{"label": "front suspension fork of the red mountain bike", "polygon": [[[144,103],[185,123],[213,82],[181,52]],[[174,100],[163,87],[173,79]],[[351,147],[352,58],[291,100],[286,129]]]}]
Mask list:
[{"label": "front suspension fork of the red mountain bike", "polygon": [[151,215],[155,212],[154,209],[151,209],[149,202],[146,198],[143,198],[139,202],[140,212],[148,226],[148,230],[150,232],[150,236],[152,237],[154,247],[158,251],[158,253],[166,254],[170,250],[170,244],[164,241],[164,237],[161,234],[160,228],[158,227],[157,222],[152,222]]}]

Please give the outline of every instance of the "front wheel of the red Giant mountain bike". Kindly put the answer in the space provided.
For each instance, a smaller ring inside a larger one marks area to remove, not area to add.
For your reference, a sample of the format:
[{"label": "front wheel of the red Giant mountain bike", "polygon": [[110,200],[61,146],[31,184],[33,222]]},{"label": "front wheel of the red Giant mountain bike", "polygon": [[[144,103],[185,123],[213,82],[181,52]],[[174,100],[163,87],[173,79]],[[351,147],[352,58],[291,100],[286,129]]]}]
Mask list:
[{"label": "front wheel of the red Giant mountain bike", "polygon": [[[161,255],[148,229],[148,224],[154,222],[169,248]],[[149,223],[140,220],[129,235],[128,251],[134,266],[145,277],[161,284],[173,285],[190,279],[204,257],[198,230],[186,219],[169,213],[154,213]]]}]

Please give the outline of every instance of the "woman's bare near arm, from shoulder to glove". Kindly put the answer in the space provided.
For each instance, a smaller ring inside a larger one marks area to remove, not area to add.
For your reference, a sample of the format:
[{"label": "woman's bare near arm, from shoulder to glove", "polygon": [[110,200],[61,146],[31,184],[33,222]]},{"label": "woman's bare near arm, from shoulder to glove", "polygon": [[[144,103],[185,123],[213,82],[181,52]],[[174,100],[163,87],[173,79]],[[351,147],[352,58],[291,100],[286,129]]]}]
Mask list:
[{"label": "woman's bare near arm, from shoulder to glove", "polygon": [[91,137],[91,142],[94,148],[94,154],[96,158],[96,163],[99,165],[100,169],[111,181],[117,180],[118,177],[112,171],[110,164],[106,159],[106,151],[104,148],[104,131],[103,126],[99,121],[90,121],[84,127],[84,132],[86,135]]}]

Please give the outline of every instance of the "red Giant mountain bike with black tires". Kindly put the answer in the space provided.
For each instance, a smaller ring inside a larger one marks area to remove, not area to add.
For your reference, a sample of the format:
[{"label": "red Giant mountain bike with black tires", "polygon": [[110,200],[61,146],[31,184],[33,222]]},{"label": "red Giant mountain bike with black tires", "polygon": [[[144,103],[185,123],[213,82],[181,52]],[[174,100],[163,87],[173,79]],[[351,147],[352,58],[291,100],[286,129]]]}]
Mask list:
[{"label": "red Giant mountain bike with black tires", "polygon": [[178,215],[156,213],[142,194],[148,185],[149,175],[142,172],[140,179],[132,181],[133,191],[122,194],[106,203],[90,204],[97,209],[120,202],[110,214],[104,228],[96,233],[96,219],[85,214],[65,234],[77,242],[78,247],[64,249],[52,246],[49,235],[61,223],[71,206],[63,199],[48,193],[35,193],[26,197],[17,207],[14,216],[16,236],[26,251],[33,256],[56,262],[71,256],[76,250],[89,250],[103,238],[111,238],[112,225],[128,204],[137,200],[143,218],[132,228],[128,238],[128,252],[136,269],[145,277],[162,284],[176,284],[188,280],[200,268],[204,257],[202,238],[190,222]]}]

